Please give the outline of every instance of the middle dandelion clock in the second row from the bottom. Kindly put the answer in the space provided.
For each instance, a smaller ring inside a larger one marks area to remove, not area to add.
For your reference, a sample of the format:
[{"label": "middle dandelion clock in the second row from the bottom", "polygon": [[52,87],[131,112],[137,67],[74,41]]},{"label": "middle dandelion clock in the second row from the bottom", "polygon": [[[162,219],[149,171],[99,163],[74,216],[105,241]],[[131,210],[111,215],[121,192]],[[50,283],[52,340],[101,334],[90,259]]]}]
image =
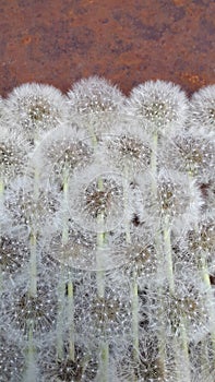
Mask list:
[{"label": "middle dandelion clock in the second row from the bottom", "polygon": [[[94,344],[106,341],[115,343],[115,338],[129,335],[131,331],[131,302],[126,295],[119,295],[115,288],[108,290],[106,279],[106,296],[97,296],[97,290],[76,290],[75,325],[79,336]],[[80,295],[81,291],[81,295]],[[79,294],[79,295],[77,295]],[[79,297],[80,296],[80,297]]]}]

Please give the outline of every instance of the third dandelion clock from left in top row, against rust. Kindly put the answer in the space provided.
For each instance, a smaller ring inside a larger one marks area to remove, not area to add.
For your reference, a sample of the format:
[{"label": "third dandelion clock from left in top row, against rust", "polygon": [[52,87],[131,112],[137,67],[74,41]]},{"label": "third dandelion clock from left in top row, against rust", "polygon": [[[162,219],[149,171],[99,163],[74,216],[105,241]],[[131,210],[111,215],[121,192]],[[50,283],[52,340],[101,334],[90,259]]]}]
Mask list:
[{"label": "third dandelion clock from left in top row, against rust", "polygon": [[128,115],[136,118],[151,134],[169,135],[172,130],[181,129],[187,111],[187,96],[180,87],[159,80],[134,87],[127,105]]}]

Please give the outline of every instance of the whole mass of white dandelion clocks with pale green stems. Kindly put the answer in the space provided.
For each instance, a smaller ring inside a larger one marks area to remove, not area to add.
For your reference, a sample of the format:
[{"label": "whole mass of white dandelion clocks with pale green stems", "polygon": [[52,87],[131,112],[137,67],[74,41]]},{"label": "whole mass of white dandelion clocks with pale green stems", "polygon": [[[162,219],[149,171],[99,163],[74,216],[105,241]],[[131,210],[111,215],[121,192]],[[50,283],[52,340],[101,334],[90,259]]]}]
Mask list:
[{"label": "whole mass of white dandelion clocks with pale green stems", "polygon": [[213,379],[214,110],[98,76],[0,98],[0,381]]}]

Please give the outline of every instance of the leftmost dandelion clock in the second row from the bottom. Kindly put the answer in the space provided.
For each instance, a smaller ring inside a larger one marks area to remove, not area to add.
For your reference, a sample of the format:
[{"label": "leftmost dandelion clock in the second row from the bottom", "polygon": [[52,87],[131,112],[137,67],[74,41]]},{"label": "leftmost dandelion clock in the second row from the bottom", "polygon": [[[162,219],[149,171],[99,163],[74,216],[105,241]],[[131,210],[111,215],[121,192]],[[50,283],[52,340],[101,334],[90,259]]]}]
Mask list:
[{"label": "leftmost dandelion clock in the second row from the bottom", "polygon": [[[44,276],[44,275],[43,275]],[[12,290],[2,294],[1,312],[5,324],[11,325],[14,333],[19,331],[27,338],[29,326],[34,337],[47,334],[55,329],[57,314],[57,291],[45,277],[38,276],[37,295],[31,296],[26,283],[17,282]],[[25,280],[26,282],[26,280]]]}]

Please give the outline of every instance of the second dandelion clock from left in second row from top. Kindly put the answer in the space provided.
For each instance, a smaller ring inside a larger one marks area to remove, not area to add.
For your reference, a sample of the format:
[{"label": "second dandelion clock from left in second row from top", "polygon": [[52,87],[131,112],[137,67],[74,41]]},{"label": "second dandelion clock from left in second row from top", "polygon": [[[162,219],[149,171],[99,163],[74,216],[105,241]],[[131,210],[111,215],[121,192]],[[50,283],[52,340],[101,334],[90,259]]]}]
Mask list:
[{"label": "second dandelion clock from left in second row from top", "polygon": [[93,160],[91,142],[76,126],[62,124],[44,136],[28,165],[39,171],[47,187],[57,187],[60,192],[74,170],[83,169]]}]

